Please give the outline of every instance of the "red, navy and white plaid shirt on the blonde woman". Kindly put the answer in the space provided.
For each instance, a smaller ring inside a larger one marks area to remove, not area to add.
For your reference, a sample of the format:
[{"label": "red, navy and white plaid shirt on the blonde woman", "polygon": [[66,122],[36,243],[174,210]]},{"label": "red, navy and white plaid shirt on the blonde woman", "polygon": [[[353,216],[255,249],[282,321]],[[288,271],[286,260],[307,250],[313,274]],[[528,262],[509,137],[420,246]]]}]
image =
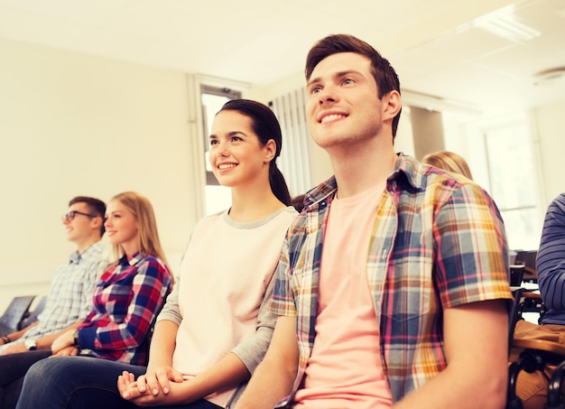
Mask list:
[{"label": "red, navy and white plaid shirt on the blonde woman", "polygon": [[122,257],[97,284],[93,309],[79,327],[80,353],[145,365],[147,334],[171,281],[171,272],[155,256]]}]

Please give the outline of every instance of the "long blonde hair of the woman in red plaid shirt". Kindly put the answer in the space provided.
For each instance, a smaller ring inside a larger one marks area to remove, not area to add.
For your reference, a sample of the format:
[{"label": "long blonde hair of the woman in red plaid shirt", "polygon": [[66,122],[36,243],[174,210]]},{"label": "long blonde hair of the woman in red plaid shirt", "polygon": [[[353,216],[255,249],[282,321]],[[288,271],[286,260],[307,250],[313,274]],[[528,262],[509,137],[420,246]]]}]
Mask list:
[{"label": "long blonde hair of the woman in red plaid shirt", "polygon": [[[122,203],[129,211],[132,212],[137,220],[137,245],[139,251],[148,256],[157,256],[165,264],[169,265],[162,251],[161,241],[159,240],[159,231],[157,230],[157,221],[151,202],[143,195],[135,191],[124,191],[116,194],[110,201],[116,200]],[[124,249],[120,245],[114,245],[114,255],[119,260],[124,256]]]}]

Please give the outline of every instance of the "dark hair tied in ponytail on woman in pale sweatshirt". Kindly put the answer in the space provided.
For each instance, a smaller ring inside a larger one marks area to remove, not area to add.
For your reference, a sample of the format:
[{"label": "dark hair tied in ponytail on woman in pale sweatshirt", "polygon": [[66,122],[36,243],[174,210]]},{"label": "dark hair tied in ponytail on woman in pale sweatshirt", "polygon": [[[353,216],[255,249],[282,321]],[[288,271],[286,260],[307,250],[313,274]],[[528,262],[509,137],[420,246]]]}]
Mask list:
[{"label": "dark hair tied in ponytail on woman in pale sweatshirt", "polygon": [[276,152],[273,160],[269,163],[271,191],[278,200],[281,200],[286,206],[291,206],[291,193],[282,172],[276,165],[276,158],[281,154],[282,133],[281,125],[279,125],[279,121],[271,108],[250,99],[232,99],[227,101],[219,111],[237,111],[250,118],[255,135],[257,135],[261,144],[265,145],[270,139],[273,139]]}]

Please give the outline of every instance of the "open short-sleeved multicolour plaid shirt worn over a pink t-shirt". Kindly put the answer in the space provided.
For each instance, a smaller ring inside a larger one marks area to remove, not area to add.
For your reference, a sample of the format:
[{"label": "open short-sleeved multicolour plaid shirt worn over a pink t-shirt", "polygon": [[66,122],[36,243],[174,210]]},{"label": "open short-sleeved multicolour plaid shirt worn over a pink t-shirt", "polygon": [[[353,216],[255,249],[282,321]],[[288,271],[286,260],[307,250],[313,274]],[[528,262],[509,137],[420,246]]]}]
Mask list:
[{"label": "open short-sleeved multicolour plaid shirt worn over a pink t-shirt", "polygon": [[[443,310],[512,299],[505,228],[495,202],[464,177],[399,153],[373,226],[366,274],[380,329],[384,375],[397,402],[447,367]],[[335,178],[306,196],[283,244],[271,303],[297,316],[301,386],[315,337],[323,237]]]}]

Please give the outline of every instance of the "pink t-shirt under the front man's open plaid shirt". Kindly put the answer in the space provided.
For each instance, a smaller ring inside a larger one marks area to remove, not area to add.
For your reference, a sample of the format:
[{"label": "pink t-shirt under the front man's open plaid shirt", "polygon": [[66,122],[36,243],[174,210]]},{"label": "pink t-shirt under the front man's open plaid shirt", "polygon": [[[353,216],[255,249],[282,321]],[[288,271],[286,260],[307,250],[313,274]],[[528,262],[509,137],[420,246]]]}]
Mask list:
[{"label": "pink t-shirt under the front man's open plaid shirt", "polygon": [[301,409],[388,408],[392,395],[380,358],[379,329],[366,256],[384,185],[331,202],[321,257],[316,339]]}]

